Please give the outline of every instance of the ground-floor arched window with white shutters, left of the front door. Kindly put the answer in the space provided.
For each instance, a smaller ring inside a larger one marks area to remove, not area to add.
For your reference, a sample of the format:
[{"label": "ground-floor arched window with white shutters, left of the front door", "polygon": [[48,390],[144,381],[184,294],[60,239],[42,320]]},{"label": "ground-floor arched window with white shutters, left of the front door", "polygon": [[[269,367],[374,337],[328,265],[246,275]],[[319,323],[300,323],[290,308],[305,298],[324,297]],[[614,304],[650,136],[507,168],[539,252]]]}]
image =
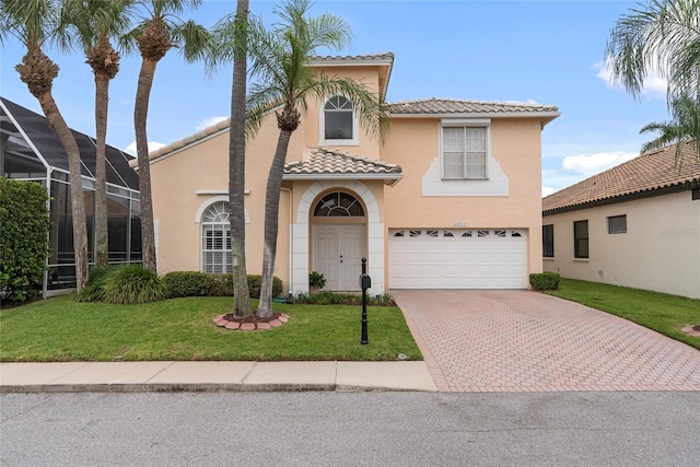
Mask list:
[{"label": "ground-floor arched window with white shutters, left of the front door", "polygon": [[201,215],[201,270],[233,272],[231,223],[226,201],[214,202]]}]

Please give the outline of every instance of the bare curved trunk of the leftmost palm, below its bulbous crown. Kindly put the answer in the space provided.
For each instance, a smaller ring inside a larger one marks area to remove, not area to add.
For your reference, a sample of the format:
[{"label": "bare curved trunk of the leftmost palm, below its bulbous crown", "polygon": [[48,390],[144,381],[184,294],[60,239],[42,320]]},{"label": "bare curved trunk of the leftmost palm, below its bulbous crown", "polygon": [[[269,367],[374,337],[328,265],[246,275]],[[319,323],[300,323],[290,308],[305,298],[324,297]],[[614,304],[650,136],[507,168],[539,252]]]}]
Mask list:
[{"label": "bare curved trunk of the leftmost palm, below its bulbous crown", "polygon": [[51,92],[36,95],[49,125],[58,135],[70,172],[70,203],[73,223],[73,250],[75,254],[75,288],[80,292],[88,281],[88,226],[85,224],[85,195],[81,174],[80,149],[63,116],[58,109]]}]

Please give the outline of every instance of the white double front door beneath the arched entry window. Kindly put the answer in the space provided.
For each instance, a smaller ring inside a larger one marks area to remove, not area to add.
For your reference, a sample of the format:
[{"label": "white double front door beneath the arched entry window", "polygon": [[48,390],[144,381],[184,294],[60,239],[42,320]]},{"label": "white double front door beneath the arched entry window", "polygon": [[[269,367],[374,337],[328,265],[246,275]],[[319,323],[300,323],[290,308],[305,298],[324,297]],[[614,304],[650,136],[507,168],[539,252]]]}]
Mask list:
[{"label": "white double front door beneath the arched entry window", "polygon": [[363,224],[314,225],[313,270],[326,277],[324,290],[360,290],[364,232]]}]

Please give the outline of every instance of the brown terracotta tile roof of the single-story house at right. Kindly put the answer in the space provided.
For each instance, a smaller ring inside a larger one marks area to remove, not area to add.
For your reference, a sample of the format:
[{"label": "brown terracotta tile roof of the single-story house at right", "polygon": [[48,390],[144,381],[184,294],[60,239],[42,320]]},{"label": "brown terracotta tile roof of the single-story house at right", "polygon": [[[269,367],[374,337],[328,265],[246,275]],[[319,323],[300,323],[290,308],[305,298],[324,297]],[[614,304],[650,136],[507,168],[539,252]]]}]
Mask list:
[{"label": "brown terracotta tile roof of the single-story house at right", "polygon": [[674,186],[700,185],[700,161],[685,142],[679,165],[676,144],[646,152],[542,199],[542,213],[583,209],[587,205]]}]

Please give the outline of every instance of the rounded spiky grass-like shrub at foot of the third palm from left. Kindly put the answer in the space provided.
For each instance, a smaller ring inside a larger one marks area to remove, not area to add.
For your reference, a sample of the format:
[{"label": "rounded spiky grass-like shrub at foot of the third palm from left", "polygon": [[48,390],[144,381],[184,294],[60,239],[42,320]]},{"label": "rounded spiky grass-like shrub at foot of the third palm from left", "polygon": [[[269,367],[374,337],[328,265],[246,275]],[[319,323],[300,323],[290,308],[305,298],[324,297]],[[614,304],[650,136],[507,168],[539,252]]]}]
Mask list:
[{"label": "rounded spiky grass-like shrub at foot of the third palm from left", "polygon": [[155,272],[141,265],[119,266],[105,275],[103,301],[119,305],[133,305],[164,300],[166,290]]}]

